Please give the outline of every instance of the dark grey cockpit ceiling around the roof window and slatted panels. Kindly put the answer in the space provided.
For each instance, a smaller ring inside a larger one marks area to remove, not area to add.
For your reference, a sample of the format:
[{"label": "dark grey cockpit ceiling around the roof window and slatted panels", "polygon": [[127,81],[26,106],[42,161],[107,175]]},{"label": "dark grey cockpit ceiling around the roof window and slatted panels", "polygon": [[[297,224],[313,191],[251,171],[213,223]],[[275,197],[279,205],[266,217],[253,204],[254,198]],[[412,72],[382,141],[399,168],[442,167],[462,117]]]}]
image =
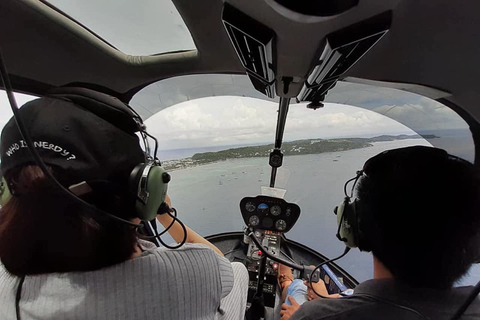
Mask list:
[{"label": "dark grey cockpit ceiling around the roof window and slatted panels", "polygon": [[[174,0],[197,50],[123,54],[37,0],[0,2],[0,45],[17,89],[88,83],[129,99],[145,85],[197,73],[244,73],[221,22],[222,0]],[[271,0],[227,0],[277,36],[276,76],[305,78],[319,44],[335,30],[392,11],[385,37],[345,76],[419,84],[480,121],[480,2],[363,0],[332,17],[309,17]],[[408,89],[406,89],[408,90]]]}]

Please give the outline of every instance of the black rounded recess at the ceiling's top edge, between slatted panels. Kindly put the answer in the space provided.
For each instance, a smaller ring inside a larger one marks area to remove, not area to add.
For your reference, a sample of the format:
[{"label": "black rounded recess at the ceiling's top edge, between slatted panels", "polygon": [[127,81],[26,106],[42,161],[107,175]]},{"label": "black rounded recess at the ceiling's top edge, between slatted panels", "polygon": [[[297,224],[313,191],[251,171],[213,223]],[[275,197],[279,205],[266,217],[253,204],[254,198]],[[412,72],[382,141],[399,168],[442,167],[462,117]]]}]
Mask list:
[{"label": "black rounded recess at the ceiling's top edge, between slatted panels", "polygon": [[358,0],[275,0],[275,2],[291,11],[318,17],[344,13],[358,4]]}]

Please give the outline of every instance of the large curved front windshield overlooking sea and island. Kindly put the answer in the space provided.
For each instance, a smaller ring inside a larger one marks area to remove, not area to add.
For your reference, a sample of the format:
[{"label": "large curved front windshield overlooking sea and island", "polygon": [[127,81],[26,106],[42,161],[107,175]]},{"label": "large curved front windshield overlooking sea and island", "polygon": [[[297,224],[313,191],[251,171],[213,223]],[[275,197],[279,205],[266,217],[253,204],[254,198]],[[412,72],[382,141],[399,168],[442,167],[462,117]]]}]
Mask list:
[{"label": "large curved front windshield overlooking sea and island", "polygon": [[[268,153],[278,103],[252,94],[243,80],[230,75],[178,77],[146,87],[131,102],[150,113],[146,124],[159,139],[158,156],[171,172],[172,202],[202,235],[241,231],[240,200],[260,194],[270,182]],[[436,101],[346,83],[338,84],[326,100],[330,102],[318,110],[305,103],[290,106],[285,157],[275,187],[286,189],[285,199],[302,210],[286,236],[328,257],[344,249],[335,237],[333,208],[343,201],[345,181],[368,158],[388,149],[426,145],[473,161],[468,126]],[[372,277],[369,254],[352,250],[338,264],[358,281]]]}]

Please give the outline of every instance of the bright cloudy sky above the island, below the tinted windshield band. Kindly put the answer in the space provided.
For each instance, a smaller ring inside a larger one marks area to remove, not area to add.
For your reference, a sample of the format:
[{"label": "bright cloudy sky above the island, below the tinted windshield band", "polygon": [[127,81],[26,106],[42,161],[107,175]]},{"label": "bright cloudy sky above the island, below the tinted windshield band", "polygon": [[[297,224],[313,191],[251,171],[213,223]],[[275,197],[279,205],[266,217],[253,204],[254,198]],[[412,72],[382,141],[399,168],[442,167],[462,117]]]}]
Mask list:
[{"label": "bright cloudy sky above the island, below the tinted windshield band", "polygon": [[[262,99],[221,96],[181,102],[150,117],[147,128],[160,148],[273,143],[278,105]],[[361,108],[326,103],[319,110],[292,104],[284,139],[414,134],[398,122]]]}]

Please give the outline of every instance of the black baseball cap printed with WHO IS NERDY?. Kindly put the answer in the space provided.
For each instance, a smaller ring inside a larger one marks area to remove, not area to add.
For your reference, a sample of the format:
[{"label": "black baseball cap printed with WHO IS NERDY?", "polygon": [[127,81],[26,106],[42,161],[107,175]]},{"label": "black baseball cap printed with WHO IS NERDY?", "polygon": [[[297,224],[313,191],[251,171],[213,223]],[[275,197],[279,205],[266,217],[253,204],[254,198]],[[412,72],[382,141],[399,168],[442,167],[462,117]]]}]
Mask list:
[{"label": "black baseball cap printed with WHO IS NERDY?", "polygon": [[[135,121],[125,110],[81,95],[57,95],[26,103],[20,115],[40,157],[65,187],[105,180],[127,188],[133,168],[146,161],[139,126],[131,125]],[[11,169],[36,164],[13,117],[2,130],[0,157],[7,179]]]}]

